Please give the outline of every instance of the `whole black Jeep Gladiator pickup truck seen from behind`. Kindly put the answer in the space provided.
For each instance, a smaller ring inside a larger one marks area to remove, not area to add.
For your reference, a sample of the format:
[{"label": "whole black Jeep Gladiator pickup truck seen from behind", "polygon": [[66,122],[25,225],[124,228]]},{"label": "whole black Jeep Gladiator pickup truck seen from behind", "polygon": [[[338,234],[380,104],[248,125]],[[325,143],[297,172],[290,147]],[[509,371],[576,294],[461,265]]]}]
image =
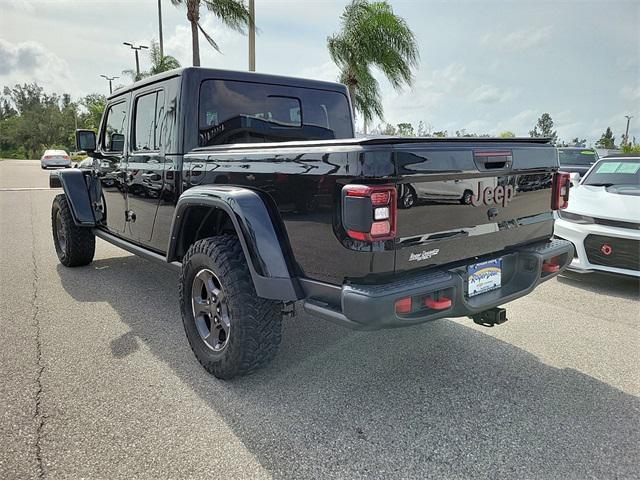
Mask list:
[{"label": "whole black Jeep Gladiator pickup truck seen from behind", "polygon": [[191,347],[219,378],[273,358],[282,316],[360,329],[469,316],[531,292],[573,257],[545,139],[354,138],[344,85],[185,68],[114,92],[93,167],[60,171],[63,265],[95,237],[180,268]]}]

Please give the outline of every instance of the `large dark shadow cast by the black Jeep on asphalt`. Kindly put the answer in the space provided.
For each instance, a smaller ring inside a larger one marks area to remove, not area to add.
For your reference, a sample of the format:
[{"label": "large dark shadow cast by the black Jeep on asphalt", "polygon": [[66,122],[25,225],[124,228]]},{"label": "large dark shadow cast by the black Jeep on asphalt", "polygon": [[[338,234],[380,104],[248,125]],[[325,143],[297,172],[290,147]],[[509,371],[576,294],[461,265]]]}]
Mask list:
[{"label": "large dark shadow cast by the black Jeep on asphalt", "polygon": [[75,300],[108,302],[129,326],[115,358],[146,344],[275,477],[637,473],[640,399],[448,320],[355,332],[299,315],[270,366],[216,380],[192,356],[167,272],[133,256],[58,265]]}]

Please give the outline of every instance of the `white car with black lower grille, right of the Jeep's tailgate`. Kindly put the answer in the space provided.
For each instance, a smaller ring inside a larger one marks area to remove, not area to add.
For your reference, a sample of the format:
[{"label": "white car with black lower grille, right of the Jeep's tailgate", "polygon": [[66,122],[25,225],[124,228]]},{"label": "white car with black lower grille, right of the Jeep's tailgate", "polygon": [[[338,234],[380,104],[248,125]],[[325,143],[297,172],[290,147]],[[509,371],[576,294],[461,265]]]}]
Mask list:
[{"label": "white car with black lower grille, right of the Jeep's tailgate", "polygon": [[640,277],[640,155],[594,164],[558,210],[554,233],[575,246],[569,269]]}]

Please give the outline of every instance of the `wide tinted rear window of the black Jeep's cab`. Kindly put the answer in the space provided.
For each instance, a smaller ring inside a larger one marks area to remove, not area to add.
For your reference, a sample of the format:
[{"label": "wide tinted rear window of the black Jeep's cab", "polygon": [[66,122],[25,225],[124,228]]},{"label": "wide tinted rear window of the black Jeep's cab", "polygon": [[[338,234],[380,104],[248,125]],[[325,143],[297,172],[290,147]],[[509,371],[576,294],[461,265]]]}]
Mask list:
[{"label": "wide tinted rear window of the black Jeep's cab", "polygon": [[349,102],[339,92],[229,80],[200,87],[201,147],[352,136]]}]

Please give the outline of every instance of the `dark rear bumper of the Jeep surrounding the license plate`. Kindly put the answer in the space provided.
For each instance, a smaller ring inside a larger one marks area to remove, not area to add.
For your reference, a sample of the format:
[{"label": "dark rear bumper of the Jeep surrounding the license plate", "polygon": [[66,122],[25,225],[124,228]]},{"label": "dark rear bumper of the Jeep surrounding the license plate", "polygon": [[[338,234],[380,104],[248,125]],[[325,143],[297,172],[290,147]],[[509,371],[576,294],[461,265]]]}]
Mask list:
[{"label": "dark rear bumper of the Jeep surrounding the license plate", "polygon": [[[503,259],[502,286],[474,297],[466,295],[467,264],[455,264],[448,269],[408,276],[393,283],[347,284],[336,295],[307,298],[304,309],[312,315],[362,330],[409,326],[443,317],[472,316],[527,295],[541,282],[556,276],[571,262],[573,245],[556,239],[497,253],[493,257],[473,259],[468,264],[498,257]],[[560,268],[556,272],[544,272],[543,262],[554,257]],[[451,299],[451,305],[443,310],[421,306],[409,314],[395,311],[397,300],[412,297],[414,305],[421,305],[425,298],[434,294]]]}]

